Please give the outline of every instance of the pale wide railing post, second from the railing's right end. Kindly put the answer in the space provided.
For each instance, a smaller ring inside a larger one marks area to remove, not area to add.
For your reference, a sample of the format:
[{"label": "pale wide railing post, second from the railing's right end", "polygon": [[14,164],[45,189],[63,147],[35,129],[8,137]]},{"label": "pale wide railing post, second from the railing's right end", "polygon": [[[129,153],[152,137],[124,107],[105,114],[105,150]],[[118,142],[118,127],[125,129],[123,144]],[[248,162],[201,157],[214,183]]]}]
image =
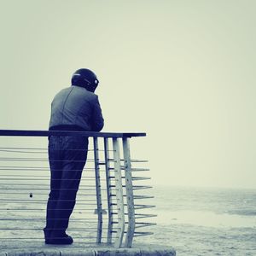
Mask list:
[{"label": "pale wide railing post, second from the railing's right end", "polygon": [[119,141],[117,138],[113,138],[113,161],[114,161],[114,180],[115,180],[115,189],[116,189],[116,201],[117,201],[117,210],[118,210],[118,230],[116,232],[114,247],[121,247],[124,232],[125,232],[125,210],[124,210],[124,199],[123,199],[123,185],[122,185]]}]

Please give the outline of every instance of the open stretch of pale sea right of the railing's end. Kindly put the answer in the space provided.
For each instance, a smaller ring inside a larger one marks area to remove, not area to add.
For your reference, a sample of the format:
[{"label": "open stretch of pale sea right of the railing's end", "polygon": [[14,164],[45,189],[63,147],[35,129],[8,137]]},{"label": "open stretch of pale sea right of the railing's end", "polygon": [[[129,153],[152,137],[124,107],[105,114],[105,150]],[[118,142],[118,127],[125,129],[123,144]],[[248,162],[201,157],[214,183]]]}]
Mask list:
[{"label": "open stretch of pale sea right of the railing's end", "polygon": [[156,186],[152,193],[157,225],[143,241],[177,255],[256,255],[256,190]]}]

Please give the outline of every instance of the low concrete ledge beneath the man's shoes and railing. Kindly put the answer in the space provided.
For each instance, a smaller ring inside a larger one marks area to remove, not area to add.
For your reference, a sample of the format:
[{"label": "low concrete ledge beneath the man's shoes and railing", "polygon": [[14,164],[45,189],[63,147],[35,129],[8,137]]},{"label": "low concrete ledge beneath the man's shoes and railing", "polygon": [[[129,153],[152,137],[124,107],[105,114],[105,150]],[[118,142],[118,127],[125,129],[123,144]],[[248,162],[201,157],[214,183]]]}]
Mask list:
[{"label": "low concrete ledge beneath the man's shoes and railing", "polygon": [[40,249],[15,249],[1,252],[0,256],[175,256],[172,247],[156,247],[143,245],[135,248],[89,247],[89,248],[44,248]]}]

